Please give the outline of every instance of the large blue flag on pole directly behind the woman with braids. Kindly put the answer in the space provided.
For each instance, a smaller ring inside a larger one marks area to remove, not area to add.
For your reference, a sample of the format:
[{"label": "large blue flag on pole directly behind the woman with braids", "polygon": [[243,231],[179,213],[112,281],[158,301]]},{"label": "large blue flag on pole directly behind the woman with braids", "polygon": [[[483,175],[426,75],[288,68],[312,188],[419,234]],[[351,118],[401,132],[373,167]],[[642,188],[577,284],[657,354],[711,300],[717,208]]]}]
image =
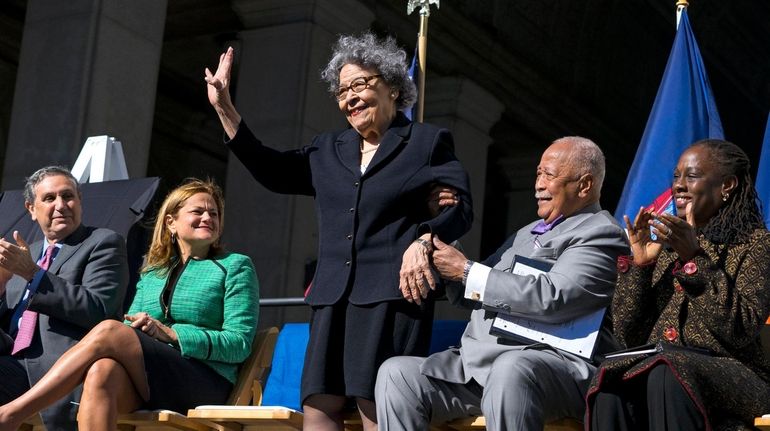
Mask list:
[{"label": "large blue flag on pole directly behind the woman with braids", "polygon": [[649,205],[671,187],[679,155],[690,144],[704,138],[722,139],[724,133],[685,10],[642,142],[615,210],[621,224],[623,214],[633,220],[639,207]]}]

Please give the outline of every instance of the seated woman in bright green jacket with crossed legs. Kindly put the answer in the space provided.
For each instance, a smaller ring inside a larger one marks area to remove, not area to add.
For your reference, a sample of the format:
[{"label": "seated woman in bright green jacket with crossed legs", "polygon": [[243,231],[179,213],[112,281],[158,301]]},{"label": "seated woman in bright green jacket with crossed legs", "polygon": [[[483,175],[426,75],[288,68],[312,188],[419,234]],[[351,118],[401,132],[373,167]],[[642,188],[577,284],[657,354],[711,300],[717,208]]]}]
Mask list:
[{"label": "seated woman in bright green jacket with crossed legs", "polygon": [[0,406],[0,430],[83,384],[79,429],[115,429],[118,413],[222,404],[251,350],[259,287],[251,260],[220,245],[222,191],[191,180],[171,191],[125,324],[106,320],[28,392]]}]

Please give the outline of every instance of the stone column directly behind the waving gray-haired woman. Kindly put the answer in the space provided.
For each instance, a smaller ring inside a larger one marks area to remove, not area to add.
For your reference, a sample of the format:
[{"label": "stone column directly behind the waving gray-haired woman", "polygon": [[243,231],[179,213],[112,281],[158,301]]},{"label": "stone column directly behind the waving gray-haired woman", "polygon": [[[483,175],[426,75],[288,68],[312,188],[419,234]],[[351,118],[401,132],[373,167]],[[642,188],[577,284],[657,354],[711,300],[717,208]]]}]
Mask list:
[{"label": "stone column directly behind the waving gray-haired woman", "polygon": [[[235,44],[238,111],[266,145],[289,150],[313,136],[346,127],[336,102],[320,82],[339,33],[359,32],[374,18],[355,0],[276,3],[237,0],[245,24]],[[262,297],[302,296],[306,270],[317,257],[312,198],[278,195],[255,182],[230,158],[227,173],[228,247],[254,259]],[[263,322],[306,321],[307,307],[263,308]]]}]

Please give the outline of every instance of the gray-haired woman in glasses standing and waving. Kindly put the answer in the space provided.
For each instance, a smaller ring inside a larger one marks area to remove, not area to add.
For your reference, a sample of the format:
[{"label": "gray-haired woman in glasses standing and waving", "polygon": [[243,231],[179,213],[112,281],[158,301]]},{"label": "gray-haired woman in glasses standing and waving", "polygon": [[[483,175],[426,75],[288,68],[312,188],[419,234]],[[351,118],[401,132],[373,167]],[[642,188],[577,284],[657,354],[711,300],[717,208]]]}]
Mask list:
[{"label": "gray-haired woman in glasses standing and waving", "polygon": [[[341,429],[347,398],[356,400],[365,427],[375,429],[377,368],[391,356],[427,353],[437,281],[431,236],[451,241],[470,228],[467,174],[448,130],[412,123],[400,112],[416,91],[406,53],[390,38],[339,38],[321,77],[351,128],[322,133],[293,151],[263,145],[242,121],[229,95],[232,61],[228,49],[215,74],[206,70],[228,147],[268,189],[316,202],[305,429]],[[457,201],[434,216],[426,201],[436,185],[454,189]]]}]

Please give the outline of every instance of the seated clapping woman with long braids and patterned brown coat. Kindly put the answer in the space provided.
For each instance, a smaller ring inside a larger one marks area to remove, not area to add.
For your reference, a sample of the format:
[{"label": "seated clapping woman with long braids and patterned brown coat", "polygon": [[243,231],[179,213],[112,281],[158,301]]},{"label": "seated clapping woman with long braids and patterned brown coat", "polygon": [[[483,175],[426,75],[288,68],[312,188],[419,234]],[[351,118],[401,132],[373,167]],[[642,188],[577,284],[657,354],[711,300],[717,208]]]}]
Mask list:
[{"label": "seated clapping woman with long braids and patterned brown coat", "polygon": [[618,260],[612,303],[621,344],[654,348],[602,364],[587,429],[751,429],[770,411],[759,339],[770,233],[749,159],[730,142],[698,141],[679,158],[671,191],[676,215],[625,216],[633,257]]}]

